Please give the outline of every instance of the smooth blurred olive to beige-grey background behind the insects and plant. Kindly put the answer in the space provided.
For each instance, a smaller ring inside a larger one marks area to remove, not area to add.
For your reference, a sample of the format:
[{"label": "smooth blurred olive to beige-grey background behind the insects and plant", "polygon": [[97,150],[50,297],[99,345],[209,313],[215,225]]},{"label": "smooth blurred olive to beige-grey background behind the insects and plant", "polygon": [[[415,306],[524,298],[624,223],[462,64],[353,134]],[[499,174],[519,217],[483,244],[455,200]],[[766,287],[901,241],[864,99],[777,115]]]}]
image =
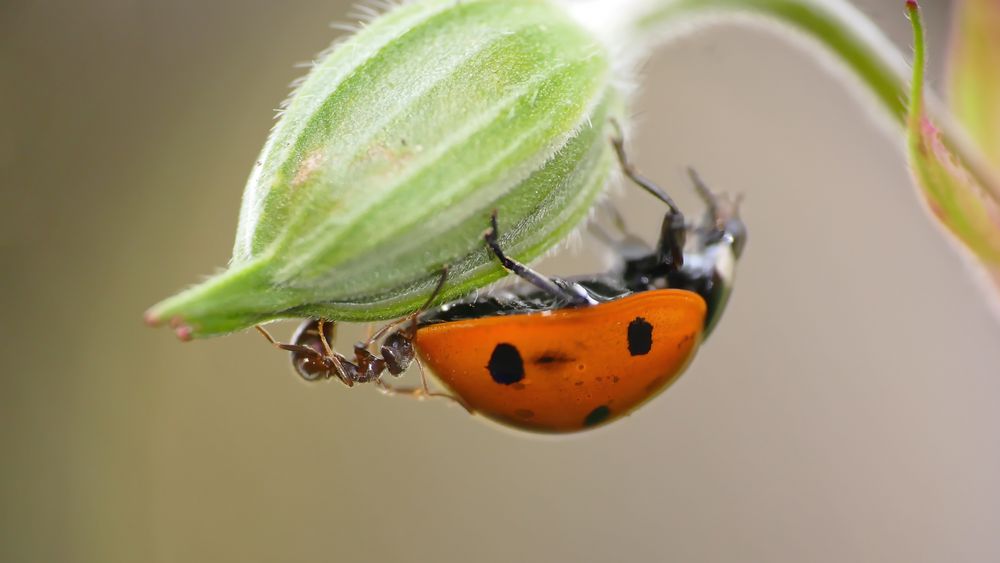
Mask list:
[{"label": "smooth blurred olive to beige-grey background behind the insects and plant", "polygon": [[[909,44],[901,0],[859,4]],[[940,83],[948,5],[926,4]],[[624,421],[517,434],[302,384],[256,334],[145,328],[228,259],[292,63],[347,11],[0,3],[0,560],[1000,560],[1000,323],[901,139],[759,30],[645,67],[635,160],[689,209],[687,165],[745,192],[751,240],[716,334]],[[586,246],[540,267],[592,270]]]}]

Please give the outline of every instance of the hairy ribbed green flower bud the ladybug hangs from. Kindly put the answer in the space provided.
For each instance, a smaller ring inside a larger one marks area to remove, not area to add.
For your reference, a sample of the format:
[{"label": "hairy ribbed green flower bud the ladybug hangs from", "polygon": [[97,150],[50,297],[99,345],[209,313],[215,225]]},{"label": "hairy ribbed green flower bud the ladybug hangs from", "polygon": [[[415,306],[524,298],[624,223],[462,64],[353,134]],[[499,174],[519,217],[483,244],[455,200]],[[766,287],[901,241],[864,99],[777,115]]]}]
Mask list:
[{"label": "hairy ribbed green flower bud the ladybug hangs from", "polygon": [[427,0],[320,57],[243,195],[227,271],[154,306],[181,337],[283,317],[369,321],[504,275],[583,219],[621,118],[605,45],[544,0]]}]

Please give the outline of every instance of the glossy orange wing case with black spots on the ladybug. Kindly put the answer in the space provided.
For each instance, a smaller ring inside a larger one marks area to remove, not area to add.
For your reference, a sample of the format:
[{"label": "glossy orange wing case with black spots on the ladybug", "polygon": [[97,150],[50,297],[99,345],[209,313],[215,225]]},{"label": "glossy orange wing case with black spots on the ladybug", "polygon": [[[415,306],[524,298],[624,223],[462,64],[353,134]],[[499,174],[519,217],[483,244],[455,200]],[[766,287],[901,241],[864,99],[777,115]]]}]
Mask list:
[{"label": "glossy orange wing case with black spots on the ladybug", "polygon": [[426,325],[424,364],[472,410],[542,432],[621,416],[681,374],[701,339],[705,301],[659,289],[608,303]]}]

